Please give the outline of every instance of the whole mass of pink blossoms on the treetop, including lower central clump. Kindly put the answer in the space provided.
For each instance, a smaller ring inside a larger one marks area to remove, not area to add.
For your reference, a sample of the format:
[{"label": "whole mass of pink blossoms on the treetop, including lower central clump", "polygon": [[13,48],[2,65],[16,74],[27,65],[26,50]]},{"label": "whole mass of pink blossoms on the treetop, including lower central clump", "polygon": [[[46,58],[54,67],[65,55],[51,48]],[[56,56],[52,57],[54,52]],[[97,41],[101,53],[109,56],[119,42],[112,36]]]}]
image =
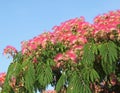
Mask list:
[{"label": "whole mass of pink blossoms on the treetop, including lower central clump", "polygon": [[[59,62],[60,60],[70,59],[76,63],[77,50],[81,51],[79,56],[82,56],[82,48],[91,38],[94,38],[96,43],[101,40],[120,40],[118,24],[120,24],[120,10],[96,16],[93,24],[86,22],[84,17],[70,19],[61,23],[60,26],[54,26],[53,32],[45,32],[29,41],[22,42],[22,53],[31,55],[38,48],[45,48],[48,41],[52,44],[62,42],[70,49],[55,56],[56,66],[59,67],[62,64]],[[35,57],[33,60],[37,61]]]}]

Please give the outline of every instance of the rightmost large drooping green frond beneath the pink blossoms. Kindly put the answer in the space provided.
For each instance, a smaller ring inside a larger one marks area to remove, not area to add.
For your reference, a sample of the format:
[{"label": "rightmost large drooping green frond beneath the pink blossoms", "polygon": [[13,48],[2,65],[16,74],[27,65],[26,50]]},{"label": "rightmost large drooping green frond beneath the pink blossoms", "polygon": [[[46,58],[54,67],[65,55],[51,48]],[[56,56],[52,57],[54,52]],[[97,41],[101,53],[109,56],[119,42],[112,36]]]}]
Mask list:
[{"label": "rightmost large drooping green frond beneath the pink blossoms", "polygon": [[101,56],[101,64],[103,70],[108,75],[115,71],[115,65],[117,61],[117,46],[114,42],[103,42],[98,46],[98,50]]}]

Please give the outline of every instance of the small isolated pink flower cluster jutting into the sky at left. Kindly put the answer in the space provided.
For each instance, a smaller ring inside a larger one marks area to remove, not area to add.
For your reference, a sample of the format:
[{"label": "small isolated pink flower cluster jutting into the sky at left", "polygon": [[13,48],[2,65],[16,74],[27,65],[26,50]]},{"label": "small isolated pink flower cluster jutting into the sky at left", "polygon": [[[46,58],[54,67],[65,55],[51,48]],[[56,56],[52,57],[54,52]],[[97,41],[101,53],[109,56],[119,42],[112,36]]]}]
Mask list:
[{"label": "small isolated pink flower cluster jutting into the sky at left", "polygon": [[14,48],[13,46],[6,46],[6,48],[4,49],[3,54],[4,55],[11,55],[12,57],[17,53],[16,48]]}]

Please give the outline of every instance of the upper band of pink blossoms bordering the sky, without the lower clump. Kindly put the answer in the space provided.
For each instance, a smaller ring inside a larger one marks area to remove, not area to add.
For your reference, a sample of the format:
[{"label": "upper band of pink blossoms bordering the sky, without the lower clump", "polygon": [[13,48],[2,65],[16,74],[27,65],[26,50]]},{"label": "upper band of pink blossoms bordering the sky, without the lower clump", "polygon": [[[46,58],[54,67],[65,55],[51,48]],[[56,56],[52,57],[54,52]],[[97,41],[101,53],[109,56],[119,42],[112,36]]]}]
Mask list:
[{"label": "upper band of pink blossoms bordering the sky, without the lower clump", "polygon": [[111,33],[113,30],[117,30],[116,33],[119,36],[120,30],[117,28],[117,24],[120,24],[120,10],[96,16],[93,24],[86,22],[84,17],[70,19],[61,23],[60,26],[54,26],[53,32],[46,32],[22,42],[22,52],[24,54],[27,50],[35,50],[38,46],[45,48],[47,41],[51,41],[53,44],[62,41],[69,45],[79,42],[79,45],[83,45],[87,42],[86,38],[91,35],[97,38],[99,34],[103,38],[104,34]]}]

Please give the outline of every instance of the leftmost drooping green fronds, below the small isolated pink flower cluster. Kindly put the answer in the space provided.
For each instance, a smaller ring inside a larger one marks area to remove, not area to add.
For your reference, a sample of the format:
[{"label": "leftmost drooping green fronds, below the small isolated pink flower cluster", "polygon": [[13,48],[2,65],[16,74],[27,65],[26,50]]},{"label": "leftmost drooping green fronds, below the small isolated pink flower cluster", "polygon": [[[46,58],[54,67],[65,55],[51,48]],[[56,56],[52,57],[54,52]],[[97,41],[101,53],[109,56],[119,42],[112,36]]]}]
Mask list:
[{"label": "leftmost drooping green fronds, below the small isolated pink flower cluster", "polygon": [[20,61],[22,60],[21,53],[19,52],[13,62],[10,64],[8,71],[7,71],[7,76],[6,80],[3,86],[3,93],[13,93],[13,90],[10,86],[10,81],[13,77],[19,77],[20,71],[21,71],[21,63]]}]

